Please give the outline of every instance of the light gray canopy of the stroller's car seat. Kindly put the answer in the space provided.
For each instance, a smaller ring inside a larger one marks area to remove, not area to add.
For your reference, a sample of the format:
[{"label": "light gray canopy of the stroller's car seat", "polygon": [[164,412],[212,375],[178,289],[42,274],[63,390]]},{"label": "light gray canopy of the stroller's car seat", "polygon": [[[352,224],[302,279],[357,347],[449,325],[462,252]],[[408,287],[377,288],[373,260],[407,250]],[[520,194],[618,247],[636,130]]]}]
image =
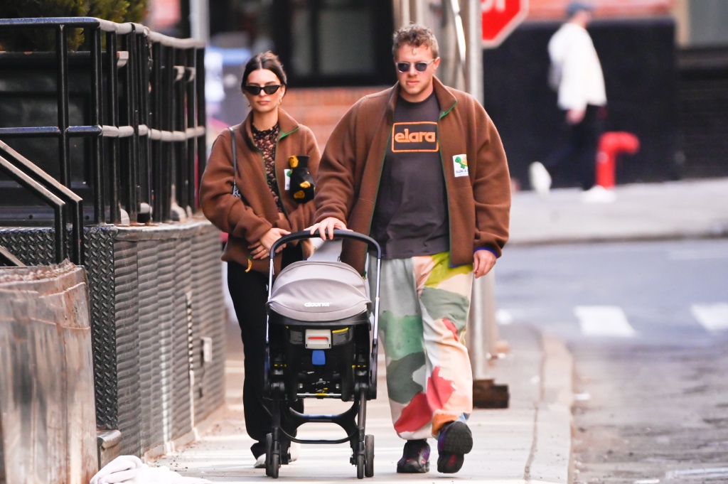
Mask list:
[{"label": "light gray canopy of the stroller's car seat", "polygon": [[275,279],[268,310],[300,321],[333,321],[371,312],[366,283],[349,264],[299,261]]}]

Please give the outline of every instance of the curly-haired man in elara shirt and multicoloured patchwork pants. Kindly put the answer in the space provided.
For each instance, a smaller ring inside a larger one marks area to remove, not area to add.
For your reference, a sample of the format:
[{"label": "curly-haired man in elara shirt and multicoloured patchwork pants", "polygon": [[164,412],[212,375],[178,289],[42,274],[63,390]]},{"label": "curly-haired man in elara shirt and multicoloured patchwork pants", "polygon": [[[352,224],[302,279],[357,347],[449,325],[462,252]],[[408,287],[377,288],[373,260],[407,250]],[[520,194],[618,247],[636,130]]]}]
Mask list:
[{"label": "curly-haired man in elara shirt and multicoloured patchwork pants", "polygon": [[[427,472],[435,437],[438,471],[451,473],[472,448],[472,277],[491,270],[507,241],[510,178],[486,111],[435,78],[432,31],[400,28],[392,54],[397,84],[357,101],[326,144],[311,231],[327,239],[352,229],[381,245],[379,336],[392,421],[407,441],[397,472]],[[365,255],[363,243],[344,241],[341,260],[362,273]]]}]

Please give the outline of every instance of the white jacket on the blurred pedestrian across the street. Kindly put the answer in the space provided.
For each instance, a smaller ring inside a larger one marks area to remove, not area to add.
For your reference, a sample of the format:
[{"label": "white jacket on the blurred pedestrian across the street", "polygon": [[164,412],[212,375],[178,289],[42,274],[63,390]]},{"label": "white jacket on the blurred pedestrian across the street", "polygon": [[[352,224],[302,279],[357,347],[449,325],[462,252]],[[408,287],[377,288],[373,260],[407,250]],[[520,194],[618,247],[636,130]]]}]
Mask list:
[{"label": "white jacket on the blurred pedestrian across the street", "polygon": [[583,109],[606,105],[604,74],[592,39],[585,28],[564,23],[548,43],[550,81],[558,91],[558,107]]}]

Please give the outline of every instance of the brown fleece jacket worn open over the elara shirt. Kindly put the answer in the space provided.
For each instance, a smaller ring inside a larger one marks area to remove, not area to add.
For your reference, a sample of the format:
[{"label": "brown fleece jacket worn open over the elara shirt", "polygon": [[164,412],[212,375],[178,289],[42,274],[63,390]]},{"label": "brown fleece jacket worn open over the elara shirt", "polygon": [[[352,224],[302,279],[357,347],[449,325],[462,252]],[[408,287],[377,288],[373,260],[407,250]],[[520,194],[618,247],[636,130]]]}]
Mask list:
[{"label": "brown fleece jacket worn open over the elara shirt", "polygon": [[[450,265],[472,263],[478,248],[499,256],[510,221],[510,175],[500,136],[475,98],[437,78],[433,83],[442,111],[438,142],[448,197]],[[319,167],[316,222],[335,217],[349,229],[370,233],[399,92],[395,84],[358,100],[333,130]],[[468,172],[456,177],[455,159],[462,154]],[[341,260],[363,272],[365,250],[363,242],[344,240]]]}]

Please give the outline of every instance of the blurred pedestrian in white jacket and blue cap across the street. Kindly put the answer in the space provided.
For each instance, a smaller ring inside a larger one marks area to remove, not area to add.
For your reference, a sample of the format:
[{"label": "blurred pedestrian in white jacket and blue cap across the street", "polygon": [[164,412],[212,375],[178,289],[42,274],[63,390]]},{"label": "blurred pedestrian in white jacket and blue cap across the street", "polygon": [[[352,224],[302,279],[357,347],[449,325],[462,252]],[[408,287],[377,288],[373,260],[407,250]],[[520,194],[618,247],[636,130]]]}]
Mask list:
[{"label": "blurred pedestrian in white jacket and blue cap across the street", "polygon": [[[558,92],[558,107],[566,121],[566,145],[545,160],[531,164],[531,188],[546,196],[551,186],[549,171],[576,175],[587,191],[594,186],[596,150],[606,106],[604,75],[594,44],[586,31],[593,7],[574,1],[566,9],[567,20],[548,44],[549,82]],[[596,189],[597,187],[595,187]],[[590,197],[585,193],[585,200]],[[598,195],[598,192],[593,191]]]}]

